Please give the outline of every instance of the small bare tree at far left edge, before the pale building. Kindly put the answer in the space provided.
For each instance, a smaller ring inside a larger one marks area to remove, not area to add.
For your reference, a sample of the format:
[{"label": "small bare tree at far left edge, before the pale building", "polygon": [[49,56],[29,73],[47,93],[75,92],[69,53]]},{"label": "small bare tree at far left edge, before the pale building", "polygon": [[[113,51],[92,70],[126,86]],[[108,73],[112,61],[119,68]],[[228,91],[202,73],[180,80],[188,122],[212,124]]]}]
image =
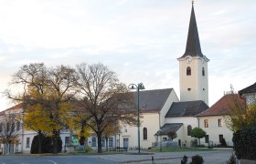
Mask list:
[{"label": "small bare tree at far left edge, before the pale building", "polygon": [[11,144],[16,144],[19,136],[19,122],[14,114],[6,114],[0,118],[0,143],[5,146],[5,153],[9,153]]}]

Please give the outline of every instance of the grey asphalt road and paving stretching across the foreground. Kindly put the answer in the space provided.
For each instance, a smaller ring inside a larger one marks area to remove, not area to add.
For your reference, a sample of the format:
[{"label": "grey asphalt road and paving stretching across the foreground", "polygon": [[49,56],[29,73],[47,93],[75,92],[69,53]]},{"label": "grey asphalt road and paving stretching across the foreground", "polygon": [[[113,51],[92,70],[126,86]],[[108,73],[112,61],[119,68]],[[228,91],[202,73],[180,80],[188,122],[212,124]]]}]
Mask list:
[{"label": "grey asphalt road and paving stretching across the foreground", "polygon": [[200,155],[207,164],[226,164],[232,154],[231,149],[212,151],[187,152],[155,152],[155,153],[124,153],[124,154],[95,154],[69,156],[0,156],[0,164],[152,164],[154,157],[156,164],[179,164],[184,155],[191,157]]}]

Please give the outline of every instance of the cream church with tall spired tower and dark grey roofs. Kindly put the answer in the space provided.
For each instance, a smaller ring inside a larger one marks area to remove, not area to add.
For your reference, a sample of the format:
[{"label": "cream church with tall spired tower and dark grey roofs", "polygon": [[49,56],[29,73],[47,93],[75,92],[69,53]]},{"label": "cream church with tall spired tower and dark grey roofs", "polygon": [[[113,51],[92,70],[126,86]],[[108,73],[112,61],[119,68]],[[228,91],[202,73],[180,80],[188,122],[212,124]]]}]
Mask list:
[{"label": "cream church with tall spired tower and dark grey roofs", "polygon": [[[185,53],[179,62],[180,100],[173,88],[140,91],[141,148],[155,147],[176,132],[179,147],[190,147],[190,131],[198,127],[197,114],[208,109],[208,57],[201,51],[197,21],[192,3]],[[136,93],[134,93],[136,97]],[[136,104],[137,102],[135,102]],[[137,104],[134,106],[136,107]],[[138,145],[137,129],[123,126],[117,138],[121,147]]]}]

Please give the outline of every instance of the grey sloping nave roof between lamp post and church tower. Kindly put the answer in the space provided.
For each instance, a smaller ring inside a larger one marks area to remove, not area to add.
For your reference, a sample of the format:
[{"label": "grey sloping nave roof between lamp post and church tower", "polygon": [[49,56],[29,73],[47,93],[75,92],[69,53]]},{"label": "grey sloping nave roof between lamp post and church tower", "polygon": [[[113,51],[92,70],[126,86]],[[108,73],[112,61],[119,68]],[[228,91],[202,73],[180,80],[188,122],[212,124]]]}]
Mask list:
[{"label": "grey sloping nave roof between lamp post and church tower", "polygon": [[[173,88],[141,90],[139,93],[140,108],[142,111],[161,110],[172,91]],[[133,99],[133,108],[136,108],[138,103],[137,92],[133,92]]]}]

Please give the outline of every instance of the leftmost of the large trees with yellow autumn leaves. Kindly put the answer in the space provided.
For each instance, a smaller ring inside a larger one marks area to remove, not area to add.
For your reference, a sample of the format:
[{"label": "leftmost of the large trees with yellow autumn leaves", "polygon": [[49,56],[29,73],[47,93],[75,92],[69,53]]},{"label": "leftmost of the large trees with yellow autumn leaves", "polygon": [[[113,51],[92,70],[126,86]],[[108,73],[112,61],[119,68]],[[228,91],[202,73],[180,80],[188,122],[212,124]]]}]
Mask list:
[{"label": "leftmost of the large trees with yellow autumn leaves", "polygon": [[[26,110],[26,115],[18,118],[24,128],[34,130],[39,136],[42,135],[40,122],[44,122],[45,113],[38,108],[41,105],[44,90],[47,87],[47,69],[43,63],[24,65],[13,75],[11,85],[23,88],[21,93],[12,94],[10,90],[5,90],[5,96],[22,103]],[[18,89],[20,90],[20,89]],[[38,138],[38,152],[41,152],[41,141]]]}]

